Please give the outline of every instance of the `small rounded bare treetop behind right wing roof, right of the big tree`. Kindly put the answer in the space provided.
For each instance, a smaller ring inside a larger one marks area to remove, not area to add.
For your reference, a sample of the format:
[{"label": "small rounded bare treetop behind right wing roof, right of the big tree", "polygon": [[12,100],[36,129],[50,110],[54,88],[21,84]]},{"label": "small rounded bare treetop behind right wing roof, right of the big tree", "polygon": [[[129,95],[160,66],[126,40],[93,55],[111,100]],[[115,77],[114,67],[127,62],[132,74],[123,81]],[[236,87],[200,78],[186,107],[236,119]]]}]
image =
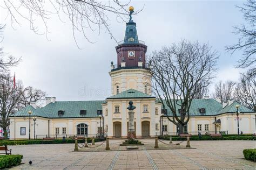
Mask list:
[{"label": "small rounded bare treetop behind right wing roof, right of the big tree", "polygon": [[214,98],[220,97],[220,103],[227,103],[228,100],[234,100],[235,82],[226,81],[225,83],[219,81],[215,84]]}]

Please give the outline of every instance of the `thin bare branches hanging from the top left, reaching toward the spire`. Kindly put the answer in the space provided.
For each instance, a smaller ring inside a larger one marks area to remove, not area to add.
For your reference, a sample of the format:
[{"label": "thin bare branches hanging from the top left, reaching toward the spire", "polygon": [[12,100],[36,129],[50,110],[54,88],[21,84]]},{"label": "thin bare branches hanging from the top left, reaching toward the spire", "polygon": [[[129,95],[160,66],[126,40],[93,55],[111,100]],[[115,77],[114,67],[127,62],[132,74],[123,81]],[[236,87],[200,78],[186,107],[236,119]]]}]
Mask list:
[{"label": "thin bare branches hanging from the top left, reaching toward the spire", "polygon": [[[3,0],[1,2],[0,5],[8,12],[12,25],[15,23],[20,24],[21,20],[24,19],[30,24],[32,31],[37,34],[45,34],[46,38],[49,33],[47,22],[51,17],[57,16],[61,21],[63,21],[62,16],[68,17],[76,44],[76,32],[82,32],[83,36],[92,42],[87,37],[86,32],[98,30],[98,34],[100,34],[102,28],[105,28],[105,31],[114,39],[110,30],[109,15],[114,15],[118,21],[124,20],[127,18],[127,9],[130,4],[130,2],[122,3],[118,0]],[[43,32],[38,29],[40,24],[44,25]]]}]

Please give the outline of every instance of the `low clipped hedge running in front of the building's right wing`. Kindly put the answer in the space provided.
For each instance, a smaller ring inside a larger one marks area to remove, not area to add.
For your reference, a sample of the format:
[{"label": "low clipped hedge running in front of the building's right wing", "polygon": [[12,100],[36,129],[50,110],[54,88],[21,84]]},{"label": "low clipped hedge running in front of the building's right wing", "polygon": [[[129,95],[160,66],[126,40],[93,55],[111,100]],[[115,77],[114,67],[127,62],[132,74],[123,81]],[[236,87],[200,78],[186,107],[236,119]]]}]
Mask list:
[{"label": "low clipped hedge running in front of the building's right wing", "polygon": [[[170,137],[158,137],[159,139],[170,140]],[[223,137],[210,137],[210,136],[202,136],[199,138],[198,136],[190,137],[190,140],[254,140],[255,137],[252,136],[223,136]],[[186,137],[172,137],[172,140],[186,140]]]}]

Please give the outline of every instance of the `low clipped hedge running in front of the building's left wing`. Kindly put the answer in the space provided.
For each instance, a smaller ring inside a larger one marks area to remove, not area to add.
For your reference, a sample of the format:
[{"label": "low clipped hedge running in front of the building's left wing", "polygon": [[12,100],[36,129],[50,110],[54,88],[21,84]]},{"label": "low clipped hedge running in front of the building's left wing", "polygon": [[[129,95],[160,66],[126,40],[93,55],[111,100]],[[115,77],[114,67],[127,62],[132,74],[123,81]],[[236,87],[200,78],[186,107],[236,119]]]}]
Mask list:
[{"label": "low clipped hedge running in front of the building's left wing", "polygon": [[[105,140],[105,138],[103,139],[97,139],[95,138],[95,142],[97,141],[102,141]],[[87,139],[88,143],[92,143],[92,139],[89,138]],[[54,140],[42,140],[42,139],[37,139],[37,140],[16,140],[16,145],[34,145],[34,144],[72,144],[75,143],[75,139],[66,139],[65,141],[63,141],[62,139],[54,139]],[[79,139],[78,143],[84,143],[83,139]],[[11,141],[0,141],[0,146],[3,145],[15,145],[14,144],[14,140]]]}]

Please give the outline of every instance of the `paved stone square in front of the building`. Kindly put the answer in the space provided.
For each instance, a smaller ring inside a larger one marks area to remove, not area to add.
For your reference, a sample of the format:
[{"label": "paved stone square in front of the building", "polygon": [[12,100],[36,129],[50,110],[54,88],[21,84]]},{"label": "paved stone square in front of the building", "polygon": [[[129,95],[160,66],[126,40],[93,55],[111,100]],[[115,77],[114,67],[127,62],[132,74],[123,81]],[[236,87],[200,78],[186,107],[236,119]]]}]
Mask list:
[{"label": "paved stone square in front of the building", "polygon": [[[110,144],[118,141],[122,140],[110,140]],[[191,141],[190,144],[196,149],[71,152],[74,144],[10,148],[13,154],[24,155],[23,164],[13,169],[256,169],[256,163],[245,160],[242,154],[244,148],[256,148],[256,141]]]}]

